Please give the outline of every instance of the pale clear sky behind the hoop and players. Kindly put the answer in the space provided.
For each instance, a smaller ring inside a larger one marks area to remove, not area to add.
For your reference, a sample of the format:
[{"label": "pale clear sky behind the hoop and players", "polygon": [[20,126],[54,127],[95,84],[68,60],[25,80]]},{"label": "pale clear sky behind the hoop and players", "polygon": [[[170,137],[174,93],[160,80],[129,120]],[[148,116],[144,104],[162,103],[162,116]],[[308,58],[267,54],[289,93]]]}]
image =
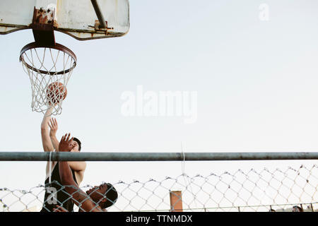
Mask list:
[{"label": "pale clear sky behind the hoop and players", "polygon": [[[260,20],[259,6],[269,6]],[[55,32],[78,64],[57,116],[83,152],[258,152],[318,148],[318,2],[130,1],[124,37]],[[18,61],[32,30],[0,36],[0,151],[42,151],[42,114]],[[124,117],[122,93],[195,91],[197,120]],[[299,162],[187,162],[187,174]],[[43,184],[45,162],[0,162],[0,187]],[[83,185],[181,174],[180,162],[88,162]]]}]

